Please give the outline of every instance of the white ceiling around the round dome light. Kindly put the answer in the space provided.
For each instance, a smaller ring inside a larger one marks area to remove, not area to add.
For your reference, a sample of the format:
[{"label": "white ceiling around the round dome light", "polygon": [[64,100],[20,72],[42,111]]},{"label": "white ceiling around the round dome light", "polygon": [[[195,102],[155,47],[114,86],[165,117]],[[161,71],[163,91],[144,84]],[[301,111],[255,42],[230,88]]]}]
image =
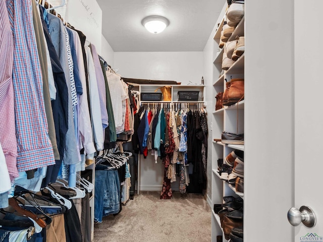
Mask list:
[{"label": "white ceiling around the round dome light", "polygon": [[[102,34],[114,51],[202,51],[222,10],[223,0],[97,0]],[[141,20],[150,15],[169,19],[159,34]]]}]

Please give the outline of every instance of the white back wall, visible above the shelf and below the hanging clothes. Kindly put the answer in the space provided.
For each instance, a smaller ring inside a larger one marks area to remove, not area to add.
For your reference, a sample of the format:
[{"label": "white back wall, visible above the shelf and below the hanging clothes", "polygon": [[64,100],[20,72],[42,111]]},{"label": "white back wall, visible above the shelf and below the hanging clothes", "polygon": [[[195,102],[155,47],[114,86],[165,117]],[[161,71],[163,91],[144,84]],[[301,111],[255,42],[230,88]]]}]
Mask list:
[{"label": "white back wall, visible above the shelf and below the hanging clothes", "polygon": [[[182,85],[200,84],[203,76],[203,52],[115,52],[114,67],[126,78],[177,81]],[[148,153],[140,155],[140,190],[161,191],[164,167]],[[178,191],[178,183],[173,189]]]}]

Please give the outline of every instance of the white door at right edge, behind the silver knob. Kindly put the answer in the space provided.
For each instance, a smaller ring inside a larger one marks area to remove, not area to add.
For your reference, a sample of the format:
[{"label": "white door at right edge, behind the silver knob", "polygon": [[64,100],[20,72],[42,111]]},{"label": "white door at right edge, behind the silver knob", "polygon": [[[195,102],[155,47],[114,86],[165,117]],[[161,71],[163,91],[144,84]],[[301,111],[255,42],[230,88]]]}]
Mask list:
[{"label": "white door at right edge, behind the silver knob", "polygon": [[295,242],[323,241],[323,3],[295,1],[295,204],[316,224],[295,226]]}]

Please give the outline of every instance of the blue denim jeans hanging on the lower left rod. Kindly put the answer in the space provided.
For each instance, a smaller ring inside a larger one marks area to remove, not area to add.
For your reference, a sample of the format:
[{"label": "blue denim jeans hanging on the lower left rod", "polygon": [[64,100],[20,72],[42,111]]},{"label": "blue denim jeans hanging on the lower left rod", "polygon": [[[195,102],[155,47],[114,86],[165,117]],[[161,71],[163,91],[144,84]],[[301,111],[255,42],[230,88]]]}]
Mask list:
[{"label": "blue denim jeans hanging on the lower left rod", "polygon": [[103,170],[104,165],[95,167],[94,221],[115,214],[120,209],[120,179],[118,170]]}]

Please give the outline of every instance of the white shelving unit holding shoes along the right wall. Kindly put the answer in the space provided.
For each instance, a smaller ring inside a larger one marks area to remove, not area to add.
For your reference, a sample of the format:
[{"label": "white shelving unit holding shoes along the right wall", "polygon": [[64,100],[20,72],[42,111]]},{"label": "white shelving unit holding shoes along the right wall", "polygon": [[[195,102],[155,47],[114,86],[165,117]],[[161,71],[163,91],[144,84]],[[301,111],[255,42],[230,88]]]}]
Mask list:
[{"label": "white shelving unit holding shoes along the right wall", "polygon": [[[227,5],[226,1],[225,5]],[[222,70],[224,48],[219,51],[218,46],[223,24],[224,18],[219,21],[219,27],[213,37],[215,41],[213,50],[215,53],[213,60],[213,97],[225,90],[227,81],[233,78],[244,78],[244,55],[240,56],[228,70]],[[228,41],[234,40],[237,36],[244,36],[244,25],[243,17]],[[213,106],[215,107],[216,99],[214,98],[213,100]],[[217,235],[223,235],[223,241],[228,241],[225,239],[223,229],[221,228],[220,217],[213,211],[213,204],[224,203],[223,197],[225,196],[244,198],[244,194],[237,192],[234,185],[230,185],[227,181],[221,179],[218,171],[218,159],[225,159],[234,150],[244,151],[244,145],[223,144],[221,141],[218,141],[221,139],[222,131],[244,133],[244,107],[245,101],[242,100],[231,106],[224,106],[219,110],[212,111],[212,242],[217,241]]]}]

